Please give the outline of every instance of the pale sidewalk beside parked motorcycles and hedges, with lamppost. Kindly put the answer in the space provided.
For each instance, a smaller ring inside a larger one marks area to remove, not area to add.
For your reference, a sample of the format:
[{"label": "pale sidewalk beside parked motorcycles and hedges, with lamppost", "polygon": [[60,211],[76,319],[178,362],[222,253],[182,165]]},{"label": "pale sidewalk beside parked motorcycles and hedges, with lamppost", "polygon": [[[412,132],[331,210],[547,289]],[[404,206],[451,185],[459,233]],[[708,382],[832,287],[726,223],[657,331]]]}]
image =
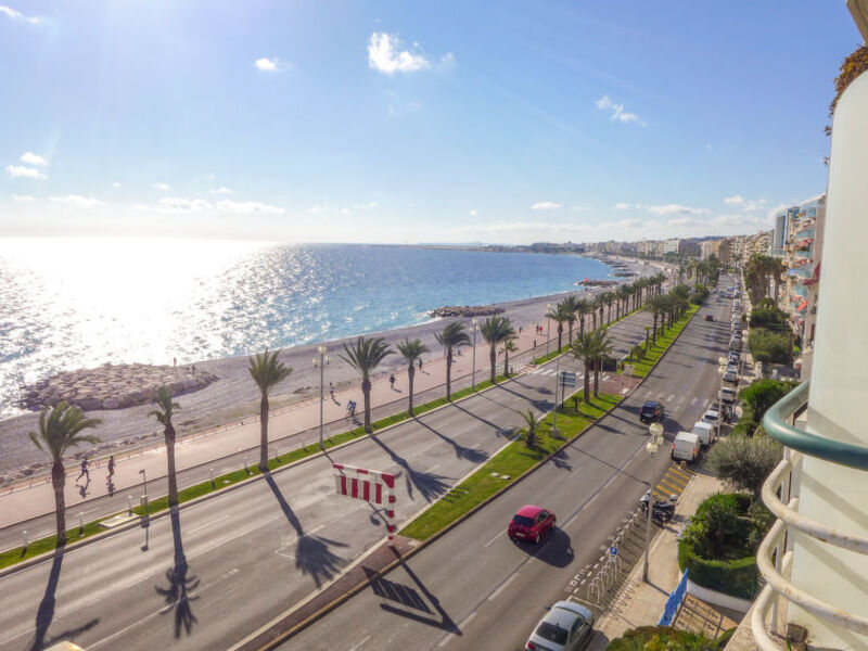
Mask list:
[{"label": "pale sidewalk beside parked motorcycles and hedges, with lamppost", "polygon": [[[627,580],[618,590],[607,612],[597,621],[597,635],[588,646],[589,651],[602,651],[609,642],[638,626],[656,626],[669,592],[680,578],[678,570],[678,534],[687,523],[688,514],[709,497],[723,488],[720,482],[703,471],[694,474],[678,499],[675,518],[651,541],[649,583],[642,582],[642,561],[637,562]],[[733,620],[735,617],[735,620]],[[716,637],[737,626],[740,613],[704,603],[688,596],[673,622],[676,628],[701,631]]]}]

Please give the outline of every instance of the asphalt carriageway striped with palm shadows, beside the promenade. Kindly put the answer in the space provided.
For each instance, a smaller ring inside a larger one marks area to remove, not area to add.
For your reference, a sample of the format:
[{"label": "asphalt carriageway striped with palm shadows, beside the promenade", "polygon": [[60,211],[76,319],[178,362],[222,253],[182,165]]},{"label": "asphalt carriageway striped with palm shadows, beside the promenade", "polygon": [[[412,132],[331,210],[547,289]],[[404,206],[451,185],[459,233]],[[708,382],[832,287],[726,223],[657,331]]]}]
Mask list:
[{"label": "asphalt carriageway striped with palm shadows, beside the promenade", "polygon": [[[620,324],[623,345],[643,339],[650,318]],[[406,521],[507,443],[521,410],[550,409],[552,384],[525,375],[331,459],[400,473],[396,513]],[[89,651],[237,642],[384,536],[378,511],[334,494],[330,465],[311,460],[3,577],[0,649],[69,638]]]}]

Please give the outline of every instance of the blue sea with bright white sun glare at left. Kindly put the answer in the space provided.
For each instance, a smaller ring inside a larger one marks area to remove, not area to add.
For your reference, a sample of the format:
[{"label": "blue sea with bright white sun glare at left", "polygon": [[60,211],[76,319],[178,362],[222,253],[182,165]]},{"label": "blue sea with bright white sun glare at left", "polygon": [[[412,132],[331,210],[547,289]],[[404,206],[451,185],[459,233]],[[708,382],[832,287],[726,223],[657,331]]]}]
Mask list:
[{"label": "blue sea with bright white sun glare at left", "polygon": [[443,305],[566,292],[573,255],[385,245],[0,239],[0,418],[23,385],[104,362],[189,363],[412,326]]}]

